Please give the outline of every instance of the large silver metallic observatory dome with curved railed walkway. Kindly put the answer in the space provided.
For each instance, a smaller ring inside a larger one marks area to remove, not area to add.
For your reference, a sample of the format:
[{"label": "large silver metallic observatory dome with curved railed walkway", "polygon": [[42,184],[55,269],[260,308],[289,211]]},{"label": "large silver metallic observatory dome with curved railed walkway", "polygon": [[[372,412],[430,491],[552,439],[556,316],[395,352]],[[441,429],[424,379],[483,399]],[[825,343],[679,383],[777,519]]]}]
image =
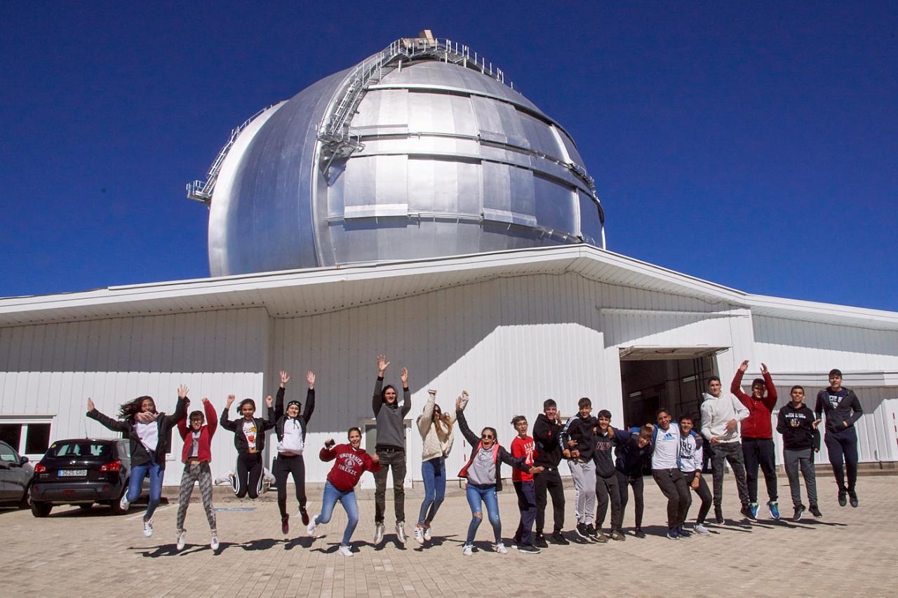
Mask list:
[{"label": "large silver metallic observatory dome with curved railed walkway", "polygon": [[604,246],[568,133],[429,31],[261,110],[188,197],[210,206],[212,276]]}]

